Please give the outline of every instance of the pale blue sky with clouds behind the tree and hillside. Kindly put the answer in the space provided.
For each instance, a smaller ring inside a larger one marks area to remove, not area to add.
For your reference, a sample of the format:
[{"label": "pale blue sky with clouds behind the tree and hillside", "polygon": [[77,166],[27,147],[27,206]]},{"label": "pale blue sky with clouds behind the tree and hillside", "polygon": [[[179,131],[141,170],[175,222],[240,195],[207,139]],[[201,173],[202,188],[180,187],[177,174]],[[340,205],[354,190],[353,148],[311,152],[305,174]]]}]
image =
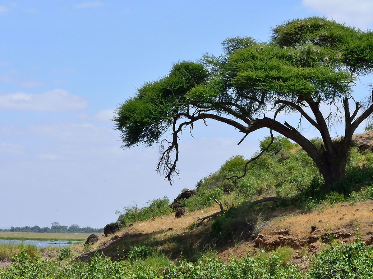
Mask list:
[{"label": "pale blue sky with clouds behind the tree and hillside", "polygon": [[368,29],[372,14],[364,0],[1,1],[0,227],[103,227],[117,209],[172,200],[232,155],[250,157],[267,131],[237,146],[234,129],[197,126],[170,186],[157,146],[122,150],[113,110],[174,62],[220,54],[225,38],[266,41],[314,15]]}]

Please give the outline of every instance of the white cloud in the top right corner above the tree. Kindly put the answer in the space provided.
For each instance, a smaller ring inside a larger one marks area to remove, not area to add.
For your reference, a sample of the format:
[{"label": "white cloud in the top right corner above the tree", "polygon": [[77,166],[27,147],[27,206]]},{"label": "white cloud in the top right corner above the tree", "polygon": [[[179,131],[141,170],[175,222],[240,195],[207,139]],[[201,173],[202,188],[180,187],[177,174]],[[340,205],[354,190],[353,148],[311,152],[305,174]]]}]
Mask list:
[{"label": "white cloud in the top right corner above the tree", "polygon": [[337,22],[367,29],[373,23],[371,0],[302,0],[302,4]]}]

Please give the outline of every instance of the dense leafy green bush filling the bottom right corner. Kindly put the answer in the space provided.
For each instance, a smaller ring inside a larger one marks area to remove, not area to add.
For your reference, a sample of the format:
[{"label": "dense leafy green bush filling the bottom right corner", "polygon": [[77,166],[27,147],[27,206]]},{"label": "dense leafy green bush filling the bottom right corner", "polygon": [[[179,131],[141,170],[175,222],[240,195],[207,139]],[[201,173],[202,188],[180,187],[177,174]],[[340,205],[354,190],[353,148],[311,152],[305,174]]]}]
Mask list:
[{"label": "dense leafy green bush filling the bottom right corner", "polygon": [[311,278],[373,278],[373,247],[335,242],[312,260]]}]

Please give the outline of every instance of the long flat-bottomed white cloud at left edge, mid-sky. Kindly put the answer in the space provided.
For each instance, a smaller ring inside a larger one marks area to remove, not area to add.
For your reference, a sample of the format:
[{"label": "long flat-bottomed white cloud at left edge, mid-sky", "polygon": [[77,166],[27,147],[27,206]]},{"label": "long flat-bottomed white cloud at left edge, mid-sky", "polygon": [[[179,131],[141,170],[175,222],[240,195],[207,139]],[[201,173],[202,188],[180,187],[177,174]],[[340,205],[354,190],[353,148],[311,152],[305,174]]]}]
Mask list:
[{"label": "long flat-bottomed white cloud at left edge, mid-sky", "polygon": [[87,107],[83,97],[61,89],[41,94],[13,93],[0,95],[0,108],[38,111],[77,110]]}]

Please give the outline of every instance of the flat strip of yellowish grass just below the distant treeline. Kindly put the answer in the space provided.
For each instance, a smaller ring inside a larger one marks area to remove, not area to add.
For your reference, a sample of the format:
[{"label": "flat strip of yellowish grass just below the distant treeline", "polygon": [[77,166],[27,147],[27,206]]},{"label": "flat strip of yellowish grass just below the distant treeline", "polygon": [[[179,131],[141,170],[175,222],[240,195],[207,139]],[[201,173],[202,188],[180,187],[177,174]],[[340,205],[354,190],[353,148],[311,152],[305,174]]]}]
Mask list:
[{"label": "flat strip of yellowish grass just below the distant treeline", "polygon": [[86,240],[90,234],[84,233],[50,233],[50,232],[0,232],[0,238],[20,240]]}]

